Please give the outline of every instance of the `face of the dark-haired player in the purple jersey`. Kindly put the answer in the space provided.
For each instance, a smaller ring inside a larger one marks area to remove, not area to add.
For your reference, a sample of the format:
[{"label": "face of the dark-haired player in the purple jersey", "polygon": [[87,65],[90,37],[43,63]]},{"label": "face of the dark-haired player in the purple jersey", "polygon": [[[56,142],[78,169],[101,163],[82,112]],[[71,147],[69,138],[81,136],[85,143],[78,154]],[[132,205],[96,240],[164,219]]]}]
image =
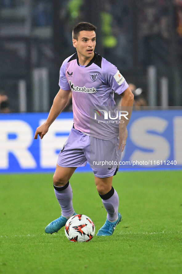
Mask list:
[{"label": "face of the dark-haired player in the purple jersey", "polygon": [[78,57],[86,59],[93,58],[96,44],[95,31],[81,31],[79,32],[78,41],[73,39],[73,46],[76,48]]}]

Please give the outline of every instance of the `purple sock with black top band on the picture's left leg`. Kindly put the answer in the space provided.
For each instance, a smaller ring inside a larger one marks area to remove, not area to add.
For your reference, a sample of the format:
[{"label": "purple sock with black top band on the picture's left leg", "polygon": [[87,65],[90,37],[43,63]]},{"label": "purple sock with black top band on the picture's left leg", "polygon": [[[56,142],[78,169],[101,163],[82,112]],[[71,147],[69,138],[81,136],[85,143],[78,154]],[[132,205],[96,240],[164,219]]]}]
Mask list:
[{"label": "purple sock with black top band on the picture's left leg", "polygon": [[54,186],[55,195],[61,207],[62,216],[68,218],[74,214],[72,198],[73,193],[69,182],[65,186]]}]

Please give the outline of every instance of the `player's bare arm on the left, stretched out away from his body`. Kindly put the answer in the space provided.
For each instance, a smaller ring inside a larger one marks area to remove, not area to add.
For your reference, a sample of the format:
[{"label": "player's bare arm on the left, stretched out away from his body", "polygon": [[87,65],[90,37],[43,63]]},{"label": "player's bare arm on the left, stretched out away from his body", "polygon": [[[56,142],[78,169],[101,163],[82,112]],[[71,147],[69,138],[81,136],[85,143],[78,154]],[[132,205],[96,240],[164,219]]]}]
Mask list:
[{"label": "player's bare arm on the left, stretched out away from his body", "polygon": [[70,91],[71,90],[63,90],[60,88],[59,92],[56,94],[54,98],[54,101],[46,122],[42,124],[41,126],[38,126],[37,130],[35,131],[34,139],[37,139],[38,135],[40,136],[40,139],[44,137],[44,135],[49,130],[49,127],[51,126],[51,124],[54,122],[54,120],[65,108],[69,99]]}]

